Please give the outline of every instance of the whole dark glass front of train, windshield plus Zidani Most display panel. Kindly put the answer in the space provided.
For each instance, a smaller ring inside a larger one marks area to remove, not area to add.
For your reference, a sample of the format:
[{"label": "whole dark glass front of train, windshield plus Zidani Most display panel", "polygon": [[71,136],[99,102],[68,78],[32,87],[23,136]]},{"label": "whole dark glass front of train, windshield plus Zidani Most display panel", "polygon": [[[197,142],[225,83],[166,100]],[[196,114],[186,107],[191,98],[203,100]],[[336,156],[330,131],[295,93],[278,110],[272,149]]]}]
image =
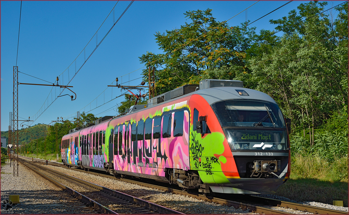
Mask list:
[{"label": "whole dark glass front of train, windshield plus Zidani Most display panel", "polygon": [[280,108],[270,102],[228,100],[212,105],[231,150],[286,150]]}]

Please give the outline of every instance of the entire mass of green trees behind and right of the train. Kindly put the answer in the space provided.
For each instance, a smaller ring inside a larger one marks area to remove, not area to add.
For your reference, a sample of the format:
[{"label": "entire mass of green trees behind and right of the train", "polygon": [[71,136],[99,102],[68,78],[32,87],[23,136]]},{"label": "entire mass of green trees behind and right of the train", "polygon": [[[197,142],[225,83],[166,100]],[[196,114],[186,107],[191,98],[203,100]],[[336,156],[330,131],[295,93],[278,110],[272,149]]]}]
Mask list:
[{"label": "entire mass of green trees behind and right of the train", "polygon": [[[244,27],[247,23],[217,22],[211,9],[187,11],[190,23],[155,34],[163,53],[147,52],[140,61],[156,67],[158,94],[206,78],[244,81],[244,87],[273,97],[291,118],[290,137],[298,151],[322,153],[327,143],[333,152],[343,151],[348,147],[348,3],[321,13],[326,5],[301,3],[270,20],[275,30],[259,34]],[[148,70],[143,75],[148,81]],[[343,125],[336,124],[341,117]],[[334,136],[340,136],[340,146],[328,142]]]}]

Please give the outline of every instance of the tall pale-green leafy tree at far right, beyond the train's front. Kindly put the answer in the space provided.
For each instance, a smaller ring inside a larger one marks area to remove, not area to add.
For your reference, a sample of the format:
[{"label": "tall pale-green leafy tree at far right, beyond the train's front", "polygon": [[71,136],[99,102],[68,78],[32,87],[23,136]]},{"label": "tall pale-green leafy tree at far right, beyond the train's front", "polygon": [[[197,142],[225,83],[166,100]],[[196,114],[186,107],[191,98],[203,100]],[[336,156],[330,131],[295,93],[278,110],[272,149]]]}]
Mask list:
[{"label": "tall pale-green leafy tree at far right, beyond the train's front", "polygon": [[348,22],[343,15],[348,5],[336,8],[339,15],[331,22],[329,15],[316,15],[326,4],[300,4],[288,17],[270,21],[283,37],[271,52],[248,62],[255,89],[276,100],[311,146],[315,129],[348,105]]}]

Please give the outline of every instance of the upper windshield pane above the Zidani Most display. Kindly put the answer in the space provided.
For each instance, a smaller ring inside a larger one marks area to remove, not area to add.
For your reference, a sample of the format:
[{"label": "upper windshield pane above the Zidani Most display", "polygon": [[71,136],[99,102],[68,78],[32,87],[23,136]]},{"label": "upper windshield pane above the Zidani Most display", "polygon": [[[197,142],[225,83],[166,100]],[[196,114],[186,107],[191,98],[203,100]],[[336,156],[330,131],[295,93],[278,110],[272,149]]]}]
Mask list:
[{"label": "upper windshield pane above the Zidani Most display", "polygon": [[211,105],[222,127],[285,128],[282,112],[275,103],[230,99]]}]

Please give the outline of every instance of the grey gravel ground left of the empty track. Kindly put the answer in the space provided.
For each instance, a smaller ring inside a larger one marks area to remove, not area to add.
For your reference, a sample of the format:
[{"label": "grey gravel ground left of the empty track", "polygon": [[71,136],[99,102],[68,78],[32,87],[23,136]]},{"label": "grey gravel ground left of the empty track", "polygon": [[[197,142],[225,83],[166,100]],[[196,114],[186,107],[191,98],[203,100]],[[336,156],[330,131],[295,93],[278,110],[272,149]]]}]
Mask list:
[{"label": "grey gravel ground left of the empty track", "polygon": [[1,166],[1,201],[9,195],[19,195],[20,204],[13,208],[1,208],[1,213],[15,214],[86,214],[84,210],[74,208],[68,194],[49,181],[25,168],[18,166],[18,176],[13,176],[13,166]]}]

